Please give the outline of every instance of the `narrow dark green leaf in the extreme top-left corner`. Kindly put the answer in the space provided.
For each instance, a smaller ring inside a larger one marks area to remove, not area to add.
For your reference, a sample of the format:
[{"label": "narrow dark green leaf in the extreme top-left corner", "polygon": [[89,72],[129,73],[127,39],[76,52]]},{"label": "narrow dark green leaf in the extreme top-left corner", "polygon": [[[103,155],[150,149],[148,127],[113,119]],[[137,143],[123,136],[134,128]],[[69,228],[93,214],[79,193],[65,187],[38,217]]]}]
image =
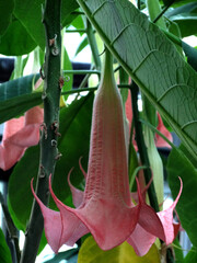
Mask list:
[{"label": "narrow dark green leaf in the extreme top-left corner", "polygon": [[0,1],[0,35],[3,35],[11,23],[12,12],[14,9],[14,0]]}]

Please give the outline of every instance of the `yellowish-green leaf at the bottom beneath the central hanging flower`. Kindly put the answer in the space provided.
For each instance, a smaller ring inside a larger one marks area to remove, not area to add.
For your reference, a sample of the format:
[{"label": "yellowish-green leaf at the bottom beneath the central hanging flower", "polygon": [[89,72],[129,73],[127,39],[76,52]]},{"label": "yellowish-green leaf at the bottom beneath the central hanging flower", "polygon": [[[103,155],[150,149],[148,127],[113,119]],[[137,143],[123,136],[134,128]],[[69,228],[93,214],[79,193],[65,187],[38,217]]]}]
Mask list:
[{"label": "yellowish-green leaf at the bottom beneath the central hanging flower", "polygon": [[78,263],[160,263],[159,250],[153,244],[149,252],[143,256],[136,255],[132,247],[124,242],[123,244],[103,251],[99,248],[93,237],[89,237],[83,242],[79,255]]}]

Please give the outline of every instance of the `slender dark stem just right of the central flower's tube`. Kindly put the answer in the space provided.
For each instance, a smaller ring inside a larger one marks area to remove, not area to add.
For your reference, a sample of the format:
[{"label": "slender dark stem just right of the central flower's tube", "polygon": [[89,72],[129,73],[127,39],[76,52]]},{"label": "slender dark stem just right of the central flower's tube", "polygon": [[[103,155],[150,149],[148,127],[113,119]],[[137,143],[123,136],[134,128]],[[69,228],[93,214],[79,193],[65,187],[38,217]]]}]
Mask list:
[{"label": "slender dark stem just right of the central flower's tube", "polygon": [[[148,184],[149,181],[152,178],[152,173],[150,170],[150,163],[149,158],[146,149],[146,144],[143,139],[143,133],[142,133],[142,126],[139,117],[138,112],[138,85],[132,81],[131,88],[131,100],[132,100],[132,113],[134,113],[134,123],[135,123],[135,129],[136,129],[136,141],[138,145],[138,150],[140,155],[141,164],[147,167],[148,169],[143,170],[146,183]],[[158,205],[158,198],[155,194],[155,188],[153,183],[151,183],[150,187],[148,188],[150,205],[155,211],[159,211],[159,205]]]}]

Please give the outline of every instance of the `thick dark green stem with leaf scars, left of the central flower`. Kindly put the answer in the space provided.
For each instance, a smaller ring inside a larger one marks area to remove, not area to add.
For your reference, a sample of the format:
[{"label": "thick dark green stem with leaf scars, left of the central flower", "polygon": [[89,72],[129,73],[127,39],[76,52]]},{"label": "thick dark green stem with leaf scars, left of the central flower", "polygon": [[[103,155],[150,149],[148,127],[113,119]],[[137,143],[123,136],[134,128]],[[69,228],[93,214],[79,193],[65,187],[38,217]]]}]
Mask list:
[{"label": "thick dark green stem with leaf scars, left of the central flower", "polygon": [[[36,194],[45,205],[48,205],[48,178],[54,174],[58,159],[57,139],[59,127],[59,99],[60,99],[60,0],[46,0],[43,23],[46,32],[46,58],[44,69],[44,124],[40,133],[40,158],[36,182]],[[30,190],[31,191],[31,190]],[[21,263],[34,263],[42,233],[43,216],[39,206],[34,201],[30,222],[25,233],[25,243]]]}]

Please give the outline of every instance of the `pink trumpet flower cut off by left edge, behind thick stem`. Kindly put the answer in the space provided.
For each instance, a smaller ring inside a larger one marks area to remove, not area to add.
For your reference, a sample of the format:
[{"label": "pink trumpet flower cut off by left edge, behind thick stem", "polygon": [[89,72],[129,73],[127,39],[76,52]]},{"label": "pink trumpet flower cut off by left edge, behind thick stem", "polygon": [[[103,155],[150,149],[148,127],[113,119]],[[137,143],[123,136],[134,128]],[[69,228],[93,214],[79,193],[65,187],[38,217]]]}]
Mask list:
[{"label": "pink trumpet flower cut off by left edge, behind thick stem", "polygon": [[43,108],[33,107],[25,116],[12,118],[5,123],[2,144],[0,145],[0,168],[12,168],[23,156],[27,147],[39,141],[39,126],[43,123]]}]

